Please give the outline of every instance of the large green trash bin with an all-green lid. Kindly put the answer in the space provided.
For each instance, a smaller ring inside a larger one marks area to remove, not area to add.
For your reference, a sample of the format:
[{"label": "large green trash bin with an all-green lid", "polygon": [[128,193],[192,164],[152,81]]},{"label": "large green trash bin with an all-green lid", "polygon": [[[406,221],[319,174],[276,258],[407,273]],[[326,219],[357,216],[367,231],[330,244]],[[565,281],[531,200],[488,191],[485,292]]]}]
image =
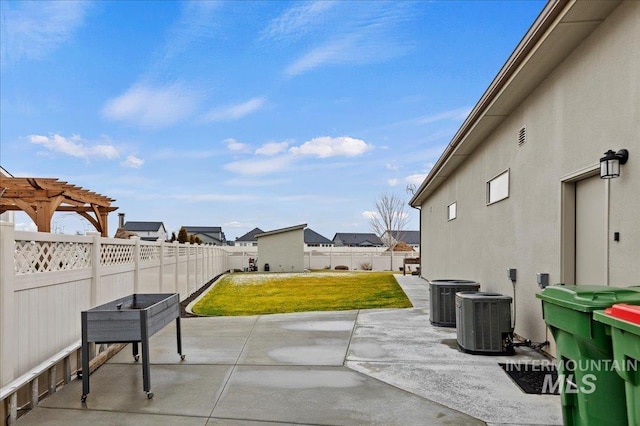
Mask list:
[{"label": "large green trash bin with an all-green lid", "polygon": [[558,285],[536,294],[556,341],[565,425],[627,425],[624,380],[603,368],[613,362],[611,337],[593,312],[616,303],[640,305],[640,289]]}]

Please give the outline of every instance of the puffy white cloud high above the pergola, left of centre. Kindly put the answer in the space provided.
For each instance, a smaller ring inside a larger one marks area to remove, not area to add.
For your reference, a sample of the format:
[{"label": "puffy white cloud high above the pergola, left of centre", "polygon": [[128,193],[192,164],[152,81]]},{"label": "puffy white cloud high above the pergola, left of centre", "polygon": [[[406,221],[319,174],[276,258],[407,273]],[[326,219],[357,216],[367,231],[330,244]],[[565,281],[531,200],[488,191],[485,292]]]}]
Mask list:
[{"label": "puffy white cloud high above the pergola, left of centre", "polygon": [[108,100],[102,114],[143,127],[168,127],[188,117],[198,102],[198,95],[180,83],[164,87],[136,84]]}]

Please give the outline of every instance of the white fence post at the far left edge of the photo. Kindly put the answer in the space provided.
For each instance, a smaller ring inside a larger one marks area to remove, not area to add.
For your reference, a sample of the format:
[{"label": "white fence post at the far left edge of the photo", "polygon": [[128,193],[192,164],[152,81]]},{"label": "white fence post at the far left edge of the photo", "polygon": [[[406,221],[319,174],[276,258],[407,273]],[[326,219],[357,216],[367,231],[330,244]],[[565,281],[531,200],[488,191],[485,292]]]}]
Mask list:
[{"label": "white fence post at the far left edge of the photo", "polygon": [[15,378],[16,324],[14,316],[15,229],[0,221],[0,386]]}]

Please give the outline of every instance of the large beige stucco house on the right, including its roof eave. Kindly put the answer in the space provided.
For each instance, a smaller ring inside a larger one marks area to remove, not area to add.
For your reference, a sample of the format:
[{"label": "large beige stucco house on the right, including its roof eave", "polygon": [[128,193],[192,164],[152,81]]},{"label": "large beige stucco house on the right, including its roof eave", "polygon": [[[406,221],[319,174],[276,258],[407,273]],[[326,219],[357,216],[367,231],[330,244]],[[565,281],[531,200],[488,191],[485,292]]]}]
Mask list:
[{"label": "large beige stucco house on the right, including its roof eave", "polygon": [[640,284],[639,23],[638,1],[549,2],[410,201],[421,274],[515,293],[515,333],[534,342],[551,339],[537,274]]}]

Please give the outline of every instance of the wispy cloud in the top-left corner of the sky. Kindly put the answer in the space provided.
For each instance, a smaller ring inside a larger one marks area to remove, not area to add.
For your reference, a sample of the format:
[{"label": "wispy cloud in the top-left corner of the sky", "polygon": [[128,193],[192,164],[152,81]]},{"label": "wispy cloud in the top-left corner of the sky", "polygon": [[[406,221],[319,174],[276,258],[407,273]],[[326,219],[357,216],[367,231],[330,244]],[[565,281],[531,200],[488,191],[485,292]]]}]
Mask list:
[{"label": "wispy cloud in the top-left corner of the sky", "polygon": [[1,2],[0,63],[42,59],[71,39],[91,4],[84,1]]}]

